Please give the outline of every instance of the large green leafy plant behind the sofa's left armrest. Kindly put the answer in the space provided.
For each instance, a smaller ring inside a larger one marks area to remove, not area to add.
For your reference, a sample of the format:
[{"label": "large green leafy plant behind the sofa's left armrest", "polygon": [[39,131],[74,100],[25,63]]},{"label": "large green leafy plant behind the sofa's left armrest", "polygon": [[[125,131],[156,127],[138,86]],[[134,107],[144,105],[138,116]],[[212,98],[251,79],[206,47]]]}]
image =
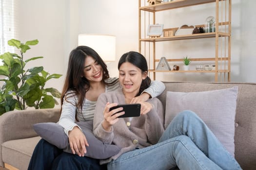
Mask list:
[{"label": "large green leafy plant behind the sofa's left armrest", "polygon": [[62,75],[49,74],[42,66],[25,70],[28,62],[43,58],[42,56],[27,60],[23,58],[23,54],[30,49],[29,46],[37,45],[38,42],[36,39],[23,44],[19,40],[11,39],[8,45],[16,47],[20,55],[10,52],[0,55],[3,63],[0,66],[0,75],[6,77],[0,79],[3,82],[0,89],[0,115],[14,109],[53,108],[55,104],[59,104],[55,98],[60,98],[60,92],[52,87],[45,88],[45,84],[48,80],[58,79]]}]

